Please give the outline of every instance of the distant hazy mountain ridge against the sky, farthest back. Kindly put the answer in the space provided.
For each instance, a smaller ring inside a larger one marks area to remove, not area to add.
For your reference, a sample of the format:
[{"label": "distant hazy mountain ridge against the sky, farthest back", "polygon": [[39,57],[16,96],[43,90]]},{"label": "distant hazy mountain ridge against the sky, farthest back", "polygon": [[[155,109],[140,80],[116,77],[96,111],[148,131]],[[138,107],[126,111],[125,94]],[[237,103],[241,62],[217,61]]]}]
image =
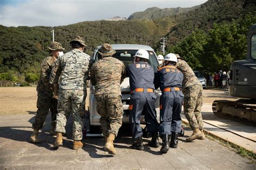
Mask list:
[{"label": "distant hazy mountain ridge against the sky, farthest back", "polygon": [[148,8],[143,12],[134,12],[132,15],[129,16],[128,19],[145,19],[145,20],[150,20],[150,19],[156,19],[156,18],[170,18],[173,17],[174,15],[179,15],[180,13],[186,13],[188,11],[194,10],[199,8],[200,5],[198,6],[193,6],[191,8],[165,8],[165,9],[160,9],[157,7],[152,7]]}]

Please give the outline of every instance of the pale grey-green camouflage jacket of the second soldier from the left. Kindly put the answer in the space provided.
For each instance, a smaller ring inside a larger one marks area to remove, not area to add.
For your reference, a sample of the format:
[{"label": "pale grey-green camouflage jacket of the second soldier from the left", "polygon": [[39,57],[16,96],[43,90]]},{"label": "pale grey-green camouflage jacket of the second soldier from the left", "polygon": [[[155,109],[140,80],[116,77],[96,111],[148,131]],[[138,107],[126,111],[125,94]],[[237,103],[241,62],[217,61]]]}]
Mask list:
[{"label": "pale grey-green camouflage jacket of the second soldier from the left", "polygon": [[90,55],[73,49],[59,57],[50,75],[50,83],[59,82],[59,89],[86,90],[86,80],[94,63]]}]

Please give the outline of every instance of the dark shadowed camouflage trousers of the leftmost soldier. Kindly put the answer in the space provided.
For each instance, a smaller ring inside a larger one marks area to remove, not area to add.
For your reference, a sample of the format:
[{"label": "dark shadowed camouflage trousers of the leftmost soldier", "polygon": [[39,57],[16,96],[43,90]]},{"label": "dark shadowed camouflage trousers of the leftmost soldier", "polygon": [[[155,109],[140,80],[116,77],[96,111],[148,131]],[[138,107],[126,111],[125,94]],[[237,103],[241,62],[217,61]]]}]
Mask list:
[{"label": "dark shadowed camouflage trousers of the leftmost soldier", "polygon": [[43,128],[49,109],[51,111],[51,125],[55,125],[58,101],[52,98],[51,94],[38,93],[37,96],[37,114],[32,128],[40,130]]}]

